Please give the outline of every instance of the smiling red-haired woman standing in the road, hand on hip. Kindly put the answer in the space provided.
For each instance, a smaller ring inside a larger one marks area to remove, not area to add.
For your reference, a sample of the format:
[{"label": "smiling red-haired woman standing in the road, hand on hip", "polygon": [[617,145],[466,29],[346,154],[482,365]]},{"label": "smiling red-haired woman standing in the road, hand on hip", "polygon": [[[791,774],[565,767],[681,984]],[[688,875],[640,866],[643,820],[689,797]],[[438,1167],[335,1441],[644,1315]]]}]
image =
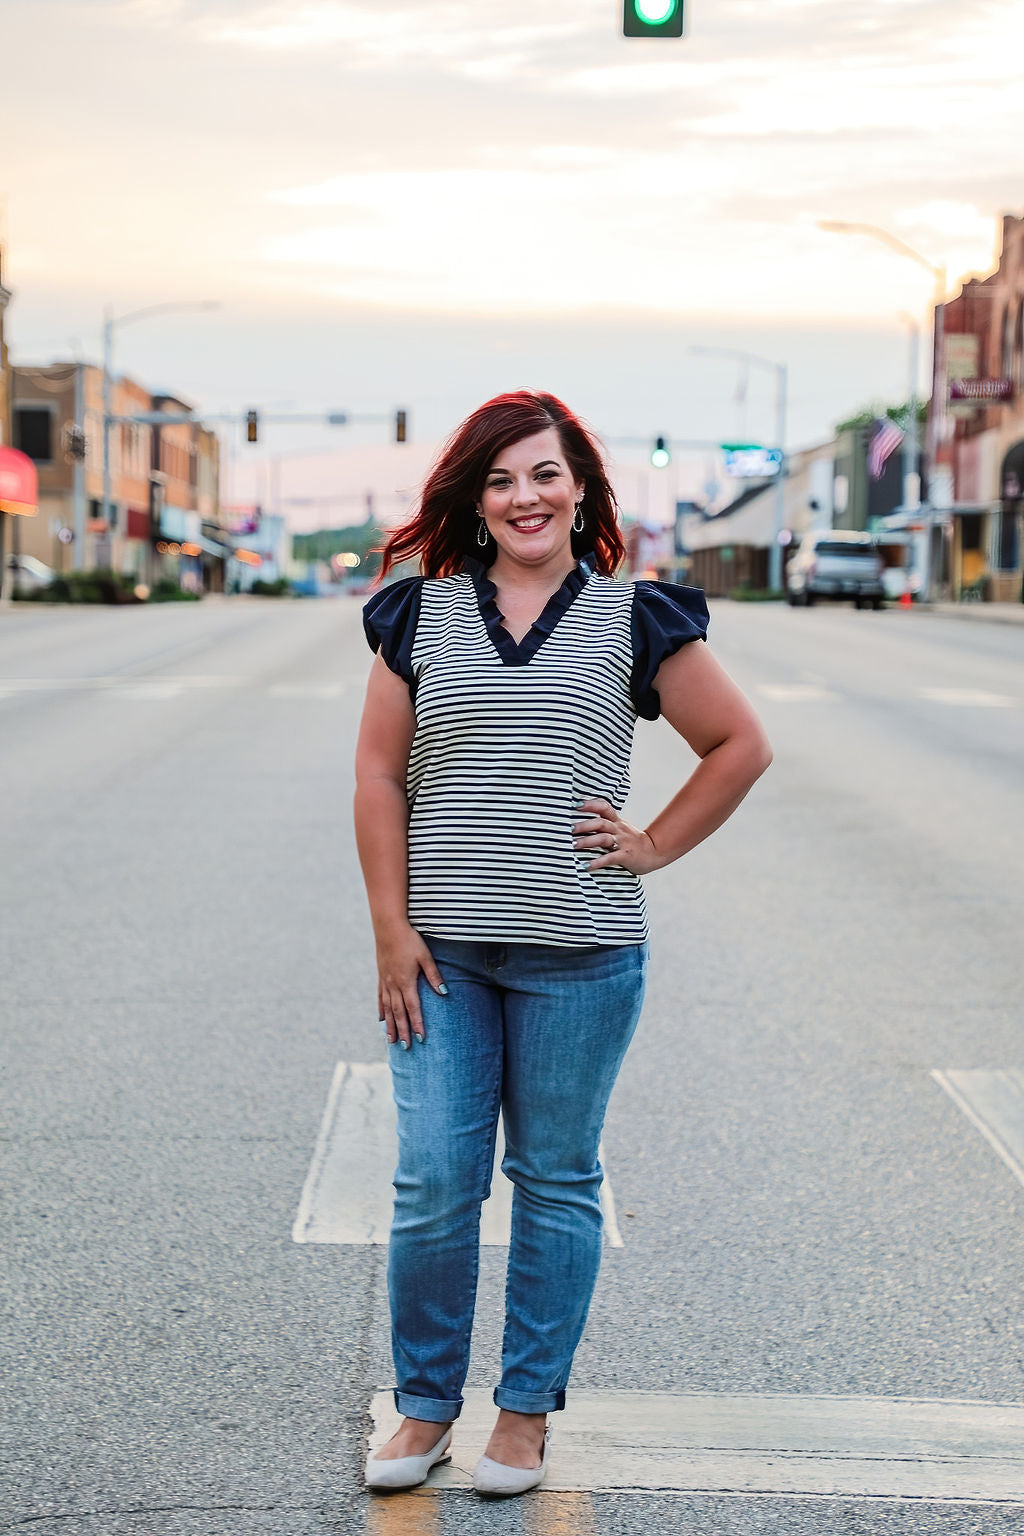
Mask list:
[{"label": "smiling red-haired woman standing in the road, hand on hip", "polygon": [[[448,1459],[499,1111],[513,1181],[499,1415],[481,1493],[536,1487],[600,1261],[597,1144],[646,968],[639,877],[689,852],[771,762],[712,660],[703,594],[613,581],[623,544],[586,429],[520,390],[451,436],[365,607],[378,656],[356,836],[399,1164],[388,1258],[404,1421],[373,1488]],[[646,829],[622,806],[637,714],[700,763]]]}]

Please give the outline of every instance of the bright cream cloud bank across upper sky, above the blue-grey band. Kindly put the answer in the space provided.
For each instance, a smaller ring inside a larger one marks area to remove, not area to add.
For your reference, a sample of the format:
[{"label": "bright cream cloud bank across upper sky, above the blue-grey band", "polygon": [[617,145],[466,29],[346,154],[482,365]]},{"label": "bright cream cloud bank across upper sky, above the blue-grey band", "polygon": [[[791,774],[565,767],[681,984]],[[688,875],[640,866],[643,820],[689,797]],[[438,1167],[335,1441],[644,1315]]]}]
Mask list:
[{"label": "bright cream cloud bank across upper sky, above the blue-grey band", "polygon": [[718,0],[671,45],[623,40],[614,0],[11,14],[12,220],[49,283],[869,313],[875,258],[818,217],[889,223],[953,272],[1021,197],[1010,0]]}]

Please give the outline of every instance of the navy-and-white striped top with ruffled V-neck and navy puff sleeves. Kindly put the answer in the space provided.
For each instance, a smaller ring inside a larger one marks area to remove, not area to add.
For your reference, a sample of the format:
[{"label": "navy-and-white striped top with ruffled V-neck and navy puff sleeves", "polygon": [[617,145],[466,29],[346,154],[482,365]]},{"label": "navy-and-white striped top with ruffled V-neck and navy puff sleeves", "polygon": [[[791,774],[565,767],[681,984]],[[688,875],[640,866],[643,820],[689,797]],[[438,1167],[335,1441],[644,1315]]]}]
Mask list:
[{"label": "navy-and-white striped top with ruffled V-neck and navy puff sleeves", "polygon": [[482,565],[415,576],[364,608],[367,639],[413,696],[408,920],[438,938],[634,945],[643,888],[573,848],[580,800],[620,809],[637,714],[666,656],[703,639],[692,587],[623,585],[577,562],[522,644]]}]

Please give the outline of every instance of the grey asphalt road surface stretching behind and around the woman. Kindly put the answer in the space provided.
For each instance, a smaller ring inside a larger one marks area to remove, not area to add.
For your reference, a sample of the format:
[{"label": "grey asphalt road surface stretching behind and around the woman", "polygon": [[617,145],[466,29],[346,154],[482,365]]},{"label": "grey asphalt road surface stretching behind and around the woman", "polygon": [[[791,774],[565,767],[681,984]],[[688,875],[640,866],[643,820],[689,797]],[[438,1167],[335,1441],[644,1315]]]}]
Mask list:
[{"label": "grey asphalt road surface stretching behind and around the woman", "polygon": [[[932,1072],[1024,1068],[1024,630],[722,604],[711,633],[775,763],[648,882],[574,1384],[1019,1404],[1024,1186]],[[292,1224],[335,1064],[381,1058],[367,664],[341,599],[0,613],[0,1528],[1019,1531],[940,1496],[362,1491],[385,1250]],[[636,820],[689,760],[640,723]]]}]

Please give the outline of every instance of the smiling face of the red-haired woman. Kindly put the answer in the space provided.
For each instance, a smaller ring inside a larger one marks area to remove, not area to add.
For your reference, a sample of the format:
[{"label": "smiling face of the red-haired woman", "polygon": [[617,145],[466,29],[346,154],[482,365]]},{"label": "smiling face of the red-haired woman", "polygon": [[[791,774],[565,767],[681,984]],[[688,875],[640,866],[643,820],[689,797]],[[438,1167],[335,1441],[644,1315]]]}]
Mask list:
[{"label": "smiling face of the red-haired woman", "polygon": [[502,449],[479,502],[497,559],[571,567],[573,511],[582,496],[554,427]]}]

